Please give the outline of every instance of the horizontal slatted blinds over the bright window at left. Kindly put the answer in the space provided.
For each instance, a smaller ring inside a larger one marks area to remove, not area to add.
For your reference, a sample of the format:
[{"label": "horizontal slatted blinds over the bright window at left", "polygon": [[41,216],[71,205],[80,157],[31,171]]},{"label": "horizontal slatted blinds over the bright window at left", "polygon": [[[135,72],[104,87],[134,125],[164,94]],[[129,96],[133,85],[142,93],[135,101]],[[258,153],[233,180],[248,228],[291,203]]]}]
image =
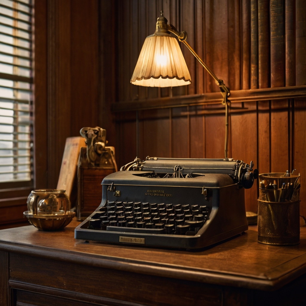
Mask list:
[{"label": "horizontal slatted blinds over the bright window at left", "polygon": [[32,179],[32,127],[31,0],[0,0],[0,182]]}]

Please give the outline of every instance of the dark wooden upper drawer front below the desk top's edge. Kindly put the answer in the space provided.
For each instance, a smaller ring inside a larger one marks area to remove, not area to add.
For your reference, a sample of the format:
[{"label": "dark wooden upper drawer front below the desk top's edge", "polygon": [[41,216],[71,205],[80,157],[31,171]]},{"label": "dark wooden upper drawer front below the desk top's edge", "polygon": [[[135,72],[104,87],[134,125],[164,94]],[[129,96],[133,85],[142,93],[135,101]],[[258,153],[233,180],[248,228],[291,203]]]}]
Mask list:
[{"label": "dark wooden upper drawer front below the desk top's edge", "polygon": [[10,253],[9,265],[9,284],[15,289],[80,296],[103,305],[222,305],[222,289],[216,285],[15,253]]}]

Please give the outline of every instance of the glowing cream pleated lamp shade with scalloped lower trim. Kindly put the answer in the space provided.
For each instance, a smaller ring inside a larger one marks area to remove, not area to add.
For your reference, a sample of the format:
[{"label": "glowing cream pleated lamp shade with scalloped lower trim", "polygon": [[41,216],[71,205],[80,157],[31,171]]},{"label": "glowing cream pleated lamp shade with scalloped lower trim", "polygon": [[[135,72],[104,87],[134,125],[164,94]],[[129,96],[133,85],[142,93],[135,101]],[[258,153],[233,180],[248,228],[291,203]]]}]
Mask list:
[{"label": "glowing cream pleated lamp shade with scalloped lower trim", "polygon": [[149,87],[190,84],[190,73],[177,39],[170,35],[148,36],[140,51],[131,83]]}]

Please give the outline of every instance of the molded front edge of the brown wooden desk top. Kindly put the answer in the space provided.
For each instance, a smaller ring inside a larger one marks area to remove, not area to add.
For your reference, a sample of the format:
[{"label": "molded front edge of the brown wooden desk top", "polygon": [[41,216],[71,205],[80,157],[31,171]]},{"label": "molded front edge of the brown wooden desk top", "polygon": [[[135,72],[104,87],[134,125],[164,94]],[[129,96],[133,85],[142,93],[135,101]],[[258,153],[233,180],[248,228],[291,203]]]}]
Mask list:
[{"label": "molded front edge of the brown wooden desk top", "polygon": [[0,241],[0,250],[26,254],[30,256],[39,256],[54,260],[62,260],[89,266],[93,265],[107,269],[265,291],[274,291],[281,288],[283,285],[290,282],[290,280],[304,274],[306,270],[306,266],[300,267],[300,269],[289,273],[291,274],[289,277],[285,277],[283,275],[280,278],[268,279],[265,276],[256,278],[248,275],[236,275],[232,273],[220,273],[218,271],[189,269],[188,267],[173,267],[166,264],[150,264],[148,262],[137,260],[123,261],[122,258],[110,258],[108,256],[96,256],[93,254],[82,256],[82,254],[74,251],[55,252],[43,248],[34,249],[27,246],[11,245],[8,241]]}]

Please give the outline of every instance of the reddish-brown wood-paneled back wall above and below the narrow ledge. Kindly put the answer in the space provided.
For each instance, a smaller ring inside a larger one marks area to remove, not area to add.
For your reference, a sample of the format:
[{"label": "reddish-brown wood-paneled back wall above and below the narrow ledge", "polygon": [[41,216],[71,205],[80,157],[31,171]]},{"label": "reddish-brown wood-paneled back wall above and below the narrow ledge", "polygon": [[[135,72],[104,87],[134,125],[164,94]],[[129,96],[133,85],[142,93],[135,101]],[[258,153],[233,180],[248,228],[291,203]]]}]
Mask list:
[{"label": "reddish-brown wood-paneled back wall above and below the narrow ledge", "polygon": [[[118,99],[114,110],[118,103],[218,91],[185,46],[181,48],[192,84],[160,89],[129,83],[144,39],[154,32],[160,10],[168,23],[188,33],[188,43],[231,90],[306,85],[304,0],[119,1]],[[253,160],[259,173],[297,169],[304,215],[305,119],[306,98],[232,103],[228,154],[245,162]],[[136,155],[142,159],[147,155],[223,158],[224,106],[117,112],[116,136],[118,166]],[[246,209],[256,212],[256,184],[246,190],[245,199]]]}]

